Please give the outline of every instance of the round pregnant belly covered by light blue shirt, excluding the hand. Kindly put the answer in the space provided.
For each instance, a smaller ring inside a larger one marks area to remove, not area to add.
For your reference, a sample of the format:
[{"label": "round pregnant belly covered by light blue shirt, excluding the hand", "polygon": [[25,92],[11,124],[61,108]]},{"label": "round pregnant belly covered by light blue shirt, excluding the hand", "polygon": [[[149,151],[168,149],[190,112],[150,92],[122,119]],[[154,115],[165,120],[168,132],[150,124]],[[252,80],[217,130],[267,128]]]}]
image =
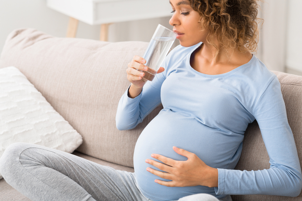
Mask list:
[{"label": "round pregnant belly covered by light blue shirt, excluding the hand", "polygon": [[195,153],[211,167],[226,168],[234,149],[238,145],[238,140],[242,140],[242,135],[241,137],[234,136],[222,130],[208,127],[195,117],[185,116],[169,110],[160,111],[143,130],[135,146],[134,171],[140,190],[146,197],[155,201],[177,200],[195,193],[210,193],[217,198],[223,197],[224,195],[217,196],[214,188],[204,186],[166,187],[157,184],[154,182],[155,179],[169,180],[146,171],[147,167],[159,169],[147,164],[145,160],[153,159],[151,157],[152,153],[174,160],[187,160],[186,157],[174,152],[172,147],[176,146]]}]

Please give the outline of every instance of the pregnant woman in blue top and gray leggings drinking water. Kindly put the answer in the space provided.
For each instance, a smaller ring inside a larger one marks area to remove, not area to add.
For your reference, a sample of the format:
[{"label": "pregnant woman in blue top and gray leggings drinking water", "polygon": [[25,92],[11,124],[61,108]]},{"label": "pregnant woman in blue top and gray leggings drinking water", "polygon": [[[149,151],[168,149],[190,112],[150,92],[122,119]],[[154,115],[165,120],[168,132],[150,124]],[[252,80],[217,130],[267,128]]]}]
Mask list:
[{"label": "pregnant woman in blue top and gray leggings drinking water", "polygon": [[[116,124],[137,124],[162,103],[134,150],[134,173],[26,143],[9,146],[0,172],[34,201],[218,201],[231,194],[298,196],[301,168],[280,83],[251,54],[256,0],[170,0],[180,46],[152,82],[144,58],[128,64],[130,87]],[[138,69],[138,70],[137,70]],[[257,120],[270,168],[233,170],[244,132]]]}]

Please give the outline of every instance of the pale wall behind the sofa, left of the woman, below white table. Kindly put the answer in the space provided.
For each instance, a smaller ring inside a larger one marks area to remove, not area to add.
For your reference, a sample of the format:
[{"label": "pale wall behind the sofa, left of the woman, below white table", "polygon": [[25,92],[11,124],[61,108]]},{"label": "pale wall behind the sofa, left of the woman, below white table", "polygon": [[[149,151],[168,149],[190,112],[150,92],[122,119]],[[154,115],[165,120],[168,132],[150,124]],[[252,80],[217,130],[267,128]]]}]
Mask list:
[{"label": "pale wall behind the sofa, left of the woman, below white table", "polygon": [[[149,42],[158,24],[172,29],[169,19],[162,17],[111,24],[108,41]],[[68,16],[48,8],[46,0],[0,0],[0,52],[7,35],[14,29],[31,27],[53,36],[65,37],[68,21]],[[99,40],[100,26],[79,22],[77,37]]]}]

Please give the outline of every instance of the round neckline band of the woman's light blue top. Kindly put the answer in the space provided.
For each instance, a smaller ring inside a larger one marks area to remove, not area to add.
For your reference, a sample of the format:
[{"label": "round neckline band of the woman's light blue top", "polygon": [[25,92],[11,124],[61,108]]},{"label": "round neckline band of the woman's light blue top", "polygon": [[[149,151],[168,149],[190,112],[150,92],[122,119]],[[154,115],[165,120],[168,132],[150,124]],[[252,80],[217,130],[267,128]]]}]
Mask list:
[{"label": "round neckline band of the woman's light blue top", "polygon": [[246,64],[243,64],[241,66],[238,66],[237,68],[234,68],[233,70],[229,71],[229,72],[226,72],[226,73],[223,73],[223,74],[217,74],[217,75],[210,75],[210,74],[204,74],[204,73],[201,73],[201,72],[198,72],[196,71],[194,68],[192,68],[191,64],[190,64],[190,59],[191,59],[191,55],[192,53],[199,47],[201,46],[202,42],[196,44],[195,48],[189,53],[189,56],[187,58],[187,62],[188,62],[188,66],[189,68],[191,69],[191,71],[193,71],[194,73],[200,75],[200,76],[203,76],[203,77],[224,77],[224,76],[227,76],[227,75],[230,75],[230,74],[233,74],[235,73],[236,71],[239,71],[240,69],[244,68],[244,67],[247,67],[249,66],[254,60],[255,60],[255,55],[252,54],[252,58],[249,60],[249,62],[247,62]]}]

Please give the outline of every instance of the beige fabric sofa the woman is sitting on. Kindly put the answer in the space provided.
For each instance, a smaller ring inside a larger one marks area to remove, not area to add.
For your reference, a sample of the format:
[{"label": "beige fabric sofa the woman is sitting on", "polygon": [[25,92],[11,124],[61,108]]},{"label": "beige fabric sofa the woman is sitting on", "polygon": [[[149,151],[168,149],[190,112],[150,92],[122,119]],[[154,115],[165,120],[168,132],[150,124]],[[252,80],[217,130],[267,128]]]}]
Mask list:
[{"label": "beige fabric sofa the woman is sitting on", "polygon": [[[133,150],[143,128],[156,116],[158,106],[135,129],[115,126],[117,103],[129,86],[127,63],[143,55],[147,42],[100,42],[56,38],[34,29],[9,34],[0,58],[0,68],[15,66],[34,84],[48,102],[83,137],[75,155],[113,168],[133,171]],[[288,121],[302,162],[302,76],[274,72],[281,83]],[[278,108],[276,108],[278,109]],[[269,168],[257,122],[246,130],[243,152],[236,169]],[[302,200],[298,197],[233,195],[234,201]],[[29,201],[0,180],[0,201]]]}]

